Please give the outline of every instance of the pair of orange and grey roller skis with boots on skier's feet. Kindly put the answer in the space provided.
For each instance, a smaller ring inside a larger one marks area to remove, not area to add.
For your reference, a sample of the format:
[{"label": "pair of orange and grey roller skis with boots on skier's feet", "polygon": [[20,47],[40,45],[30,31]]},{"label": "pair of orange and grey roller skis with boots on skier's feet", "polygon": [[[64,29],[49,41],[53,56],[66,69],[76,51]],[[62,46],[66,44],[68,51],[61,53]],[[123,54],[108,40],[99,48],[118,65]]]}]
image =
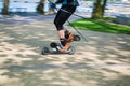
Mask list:
[{"label": "pair of orange and grey roller skis with boots on skier's feet", "polygon": [[[67,32],[67,31],[66,31]],[[65,33],[66,40],[64,43],[58,42],[52,42],[50,43],[51,49],[49,47],[43,47],[41,54],[48,55],[48,54],[75,54],[76,49],[74,46],[72,46],[72,42],[74,41],[80,41],[79,35],[75,35],[72,33]]]}]

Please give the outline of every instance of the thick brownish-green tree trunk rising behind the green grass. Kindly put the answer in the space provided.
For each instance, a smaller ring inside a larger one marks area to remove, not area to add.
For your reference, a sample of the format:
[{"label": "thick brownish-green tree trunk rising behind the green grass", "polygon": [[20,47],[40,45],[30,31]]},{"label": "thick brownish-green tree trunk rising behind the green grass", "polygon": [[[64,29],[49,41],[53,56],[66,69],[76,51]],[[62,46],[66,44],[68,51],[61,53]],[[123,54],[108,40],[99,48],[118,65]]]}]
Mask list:
[{"label": "thick brownish-green tree trunk rising behind the green grass", "polygon": [[99,19],[104,16],[106,3],[107,0],[96,0],[94,2],[93,12],[92,12],[93,19]]}]

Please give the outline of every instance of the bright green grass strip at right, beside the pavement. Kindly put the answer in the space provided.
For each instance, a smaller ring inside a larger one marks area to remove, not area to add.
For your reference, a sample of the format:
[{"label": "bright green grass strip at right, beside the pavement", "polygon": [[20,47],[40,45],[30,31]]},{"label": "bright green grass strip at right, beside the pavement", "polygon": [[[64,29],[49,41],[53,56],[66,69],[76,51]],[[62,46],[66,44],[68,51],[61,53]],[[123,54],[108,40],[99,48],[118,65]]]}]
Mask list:
[{"label": "bright green grass strip at right, beside the pavement", "polygon": [[109,33],[123,33],[130,34],[130,27],[125,25],[119,25],[113,23],[114,18],[104,17],[102,19],[78,19],[72,23],[76,28],[84,29],[84,30],[92,30],[92,31],[100,31],[100,32],[109,32]]}]

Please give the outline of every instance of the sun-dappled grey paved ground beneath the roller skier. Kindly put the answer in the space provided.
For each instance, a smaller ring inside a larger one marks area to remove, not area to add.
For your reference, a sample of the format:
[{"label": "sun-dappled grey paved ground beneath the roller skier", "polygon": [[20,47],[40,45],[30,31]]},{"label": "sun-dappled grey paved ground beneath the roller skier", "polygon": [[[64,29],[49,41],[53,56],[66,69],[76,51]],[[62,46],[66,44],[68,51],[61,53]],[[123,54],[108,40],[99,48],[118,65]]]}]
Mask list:
[{"label": "sun-dappled grey paved ground beneath the roller skier", "polygon": [[0,16],[0,86],[130,86],[130,35],[79,30],[75,55],[41,55],[53,18]]}]

